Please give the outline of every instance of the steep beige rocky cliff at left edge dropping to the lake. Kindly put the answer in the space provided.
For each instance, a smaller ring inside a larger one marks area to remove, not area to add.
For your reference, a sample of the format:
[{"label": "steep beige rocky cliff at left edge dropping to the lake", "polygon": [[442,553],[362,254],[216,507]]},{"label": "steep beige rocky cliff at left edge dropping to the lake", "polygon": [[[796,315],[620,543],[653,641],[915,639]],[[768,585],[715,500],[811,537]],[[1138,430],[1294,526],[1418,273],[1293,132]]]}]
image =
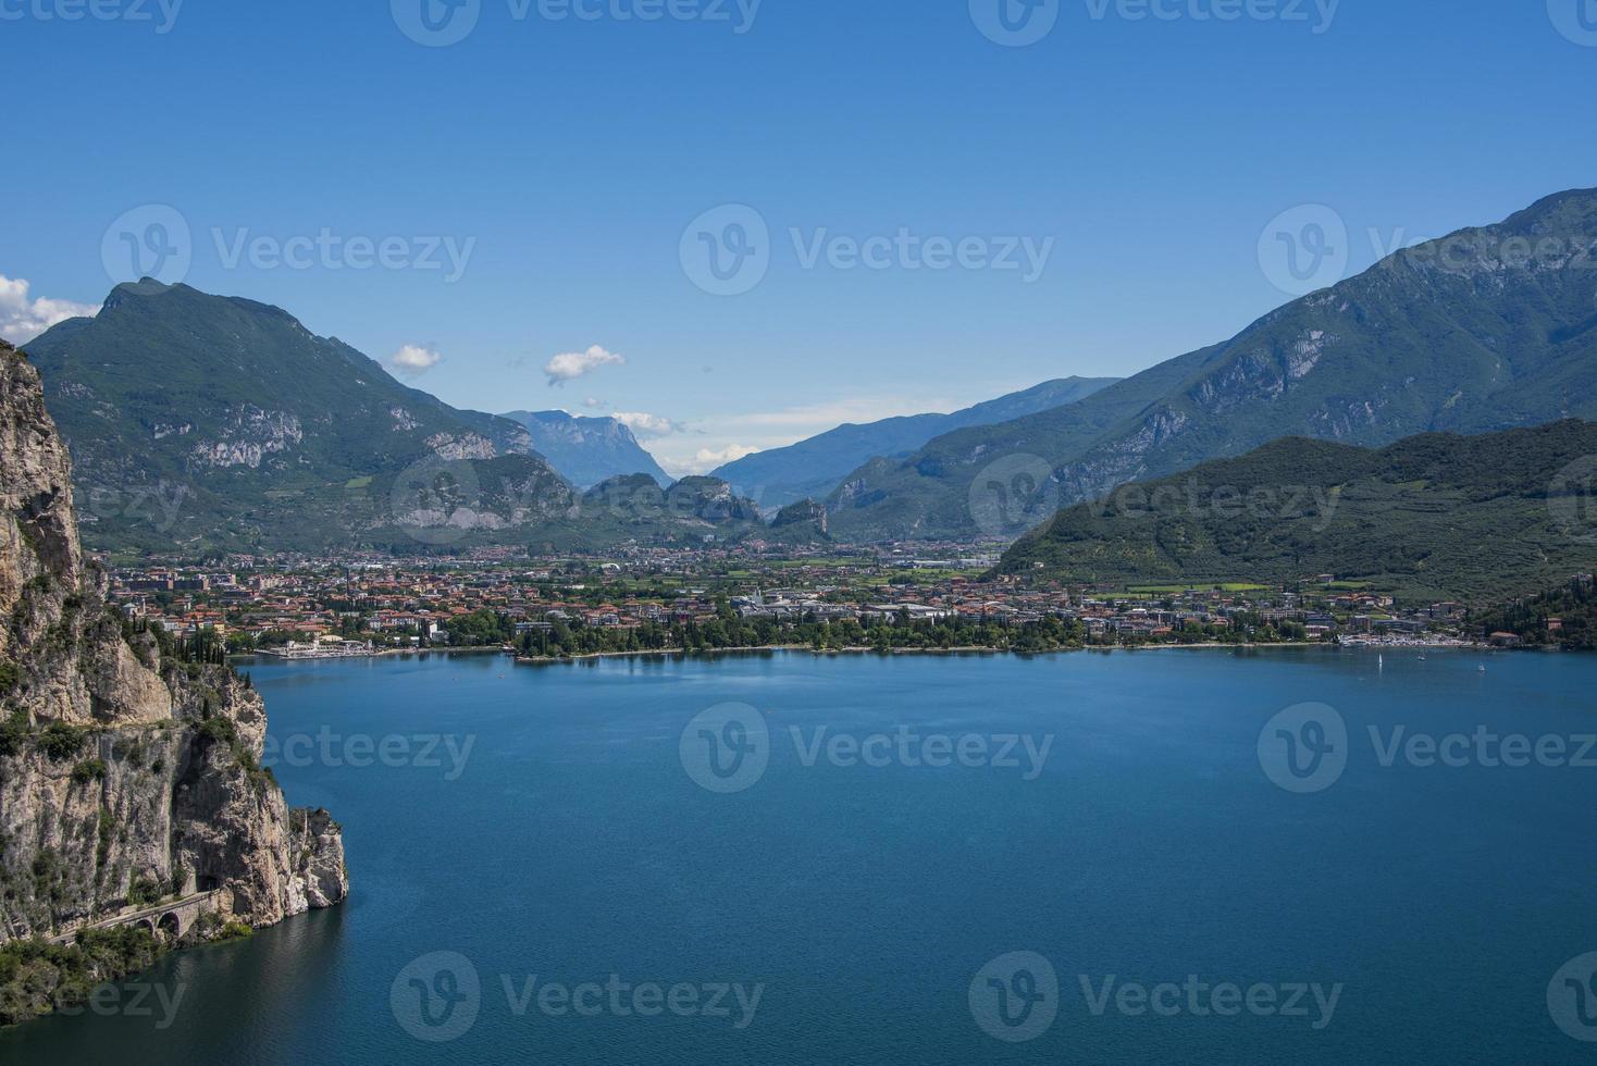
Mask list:
[{"label": "steep beige rocky cliff at left edge dropping to the lake", "polygon": [[70,476],[38,373],[0,342],[0,943],[196,892],[251,926],[337,903],[339,827],[260,769],[260,696],[105,603]]}]

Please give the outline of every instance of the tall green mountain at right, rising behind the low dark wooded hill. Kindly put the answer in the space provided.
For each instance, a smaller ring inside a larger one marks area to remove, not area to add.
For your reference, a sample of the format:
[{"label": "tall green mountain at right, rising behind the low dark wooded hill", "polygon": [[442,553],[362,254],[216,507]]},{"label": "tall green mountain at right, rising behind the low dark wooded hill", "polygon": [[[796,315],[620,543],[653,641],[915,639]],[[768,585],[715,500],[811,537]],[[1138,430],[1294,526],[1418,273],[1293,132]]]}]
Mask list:
[{"label": "tall green mountain at right, rising behind the low dark wooded hill", "polygon": [[995,463],[1040,469],[1033,493],[1068,504],[1282,434],[1381,445],[1594,417],[1594,243],[1597,190],[1584,190],[1399,252],[1070,407],[869,463],[827,499],[832,531],[976,536],[973,485]]}]

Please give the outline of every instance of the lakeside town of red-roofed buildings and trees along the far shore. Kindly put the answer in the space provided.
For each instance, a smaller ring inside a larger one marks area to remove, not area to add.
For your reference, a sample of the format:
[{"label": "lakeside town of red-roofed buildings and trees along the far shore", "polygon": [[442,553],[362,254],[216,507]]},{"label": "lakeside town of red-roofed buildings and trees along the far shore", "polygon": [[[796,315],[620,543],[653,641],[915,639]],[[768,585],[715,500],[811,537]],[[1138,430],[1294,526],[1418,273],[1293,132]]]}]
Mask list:
[{"label": "lakeside town of red-roofed buildings and trees along the far shore", "polygon": [[[615,559],[222,557],[112,568],[125,613],[233,654],[324,659],[501,648],[532,659],[733,646],[1043,651],[1070,646],[1340,643],[1496,646],[1469,606],[1401,606],[1311,574],[1292,587],[1131,589],[989,576],[968,546],[767,557],[637,551]],[[912,554],[913,552],[913,554]],[[1575,574],[1589,586],[1591,574]],[[1544,619],[1555,634],[1562,621]]]}]

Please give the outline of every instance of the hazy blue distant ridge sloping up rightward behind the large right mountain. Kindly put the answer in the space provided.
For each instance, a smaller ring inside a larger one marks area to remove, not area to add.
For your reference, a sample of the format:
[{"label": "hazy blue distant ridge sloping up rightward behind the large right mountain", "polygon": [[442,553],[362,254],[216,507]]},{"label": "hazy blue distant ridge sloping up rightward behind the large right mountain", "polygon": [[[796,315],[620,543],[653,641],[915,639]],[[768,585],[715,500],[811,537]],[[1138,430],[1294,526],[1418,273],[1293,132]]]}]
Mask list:
[{"label": "hazy blue distant ridge sloping up rightward behind the large right mountain", "polygon": [[850,471],[872,458],[902,458],[933,437],[965,426],[989,426],[1075,404],[1115,381],[1116,378],[1060,378],[952,415],[910,415],[862,426],[845,424],[786,448],[757,452],[727,463],[714,476],[770,511],[805,496],[826,496]]}]

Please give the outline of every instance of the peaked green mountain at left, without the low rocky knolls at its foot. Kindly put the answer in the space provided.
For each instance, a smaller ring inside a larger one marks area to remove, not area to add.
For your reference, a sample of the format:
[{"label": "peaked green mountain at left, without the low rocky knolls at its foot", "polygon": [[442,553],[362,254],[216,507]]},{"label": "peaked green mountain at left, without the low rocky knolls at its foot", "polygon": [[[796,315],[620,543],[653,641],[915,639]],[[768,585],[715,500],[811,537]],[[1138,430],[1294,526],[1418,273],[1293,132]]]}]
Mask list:
[{"label": "peaked green mountain at left, without the low rocky knolls at its foot", "polygon": [[519,455],[553,474],[516,423],[406,388],[252,300],[123,284],[99,316],[56,326],[27,354],[70,444],[96,547],[359,538],[386,517],[363,490],[428,456]]}]

